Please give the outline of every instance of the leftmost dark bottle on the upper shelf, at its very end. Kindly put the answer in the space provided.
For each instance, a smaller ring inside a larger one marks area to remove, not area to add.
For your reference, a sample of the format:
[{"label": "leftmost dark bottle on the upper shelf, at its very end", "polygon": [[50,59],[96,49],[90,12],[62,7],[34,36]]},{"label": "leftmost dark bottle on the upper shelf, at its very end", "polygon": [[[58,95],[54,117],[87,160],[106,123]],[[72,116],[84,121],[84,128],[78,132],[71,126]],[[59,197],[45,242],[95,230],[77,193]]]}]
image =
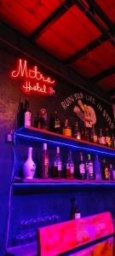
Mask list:
[{"label": "leftmost dark bottle on the upper shelf, at its very end", "polygon": [[23,102],[20,102],[19,112],[17,114],[17,129],[25,125],[25,109]]}]

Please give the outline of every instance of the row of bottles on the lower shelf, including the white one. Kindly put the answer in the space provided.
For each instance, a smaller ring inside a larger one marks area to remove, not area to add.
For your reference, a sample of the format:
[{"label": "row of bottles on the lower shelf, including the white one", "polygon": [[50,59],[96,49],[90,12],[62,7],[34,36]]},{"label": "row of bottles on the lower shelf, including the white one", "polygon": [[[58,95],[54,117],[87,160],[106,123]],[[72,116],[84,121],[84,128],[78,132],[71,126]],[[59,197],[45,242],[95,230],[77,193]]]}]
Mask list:
[{"label": "row of bottles on the lower shelf, including the white one", "polygon": [[[63,172],[66,172],[66,178],[78,178],[78,179],[96,179],[96,180],[114,180],[115,169],[112,164],[107,165],[106,160],[102,162],[99,160],[98,154],[95,155],[95,161],[91,160],[91,155],[87,155],[87,160],[83,160],[83,153],[79,153],[78,159],[75,161],[72,157],[72,151],[69,151],[66,159],[66,164],[63,165],[60,147],[56,147],[55,159],[53,166],[51,167],[51,174],[49,174],[49,154],[47,149],[47,143],[43,143],[42,154],[42,178],[63,177]],[[33,178],[36,172],[36,164],[32,160],[32,148],[28,148],[28,157],[23,164],[23,175],[25,178]]]}]

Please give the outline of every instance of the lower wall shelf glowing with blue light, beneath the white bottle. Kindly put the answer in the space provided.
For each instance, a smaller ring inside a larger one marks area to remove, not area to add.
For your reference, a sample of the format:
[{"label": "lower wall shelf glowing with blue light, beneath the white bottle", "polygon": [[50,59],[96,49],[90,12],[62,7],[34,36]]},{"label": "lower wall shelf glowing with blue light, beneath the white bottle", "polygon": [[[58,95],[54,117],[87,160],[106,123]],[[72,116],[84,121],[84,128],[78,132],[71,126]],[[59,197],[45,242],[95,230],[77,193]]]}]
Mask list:
[{"label": "lower wall shelf glowing with blue light, beneath the white bottle", "polygon": [[76,192],[85,190],[115,189],[114,181],[95,181],[78,179],[21,179],[14,180],[13,189],[15,195],[32,195],[43,193]]}]

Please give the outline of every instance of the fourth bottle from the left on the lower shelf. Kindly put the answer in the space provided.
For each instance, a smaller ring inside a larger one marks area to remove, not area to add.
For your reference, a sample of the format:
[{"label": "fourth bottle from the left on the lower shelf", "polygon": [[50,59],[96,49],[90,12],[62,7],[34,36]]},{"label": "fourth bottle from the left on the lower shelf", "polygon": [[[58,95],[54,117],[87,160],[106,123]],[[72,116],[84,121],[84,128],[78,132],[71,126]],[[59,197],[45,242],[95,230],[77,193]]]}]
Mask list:
[{"label": "fourth bottle from the left on the lower shelf", "polygon": [[74,177],[74,163],[72,160],[72,151],[70,150],[68,154],[68,159],[66,161],[66,178]]}]

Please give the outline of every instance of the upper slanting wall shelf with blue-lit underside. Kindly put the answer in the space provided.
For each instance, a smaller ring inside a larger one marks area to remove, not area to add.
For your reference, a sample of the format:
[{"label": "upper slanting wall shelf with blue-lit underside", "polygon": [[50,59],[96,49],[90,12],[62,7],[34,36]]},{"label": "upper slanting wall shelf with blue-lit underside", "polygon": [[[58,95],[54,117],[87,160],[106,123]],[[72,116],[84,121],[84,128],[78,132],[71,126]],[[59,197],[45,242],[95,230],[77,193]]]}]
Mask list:
[{"label": "upper slanting wall shelf with blue-lit underside", "polygon": [[21,127],[15,132],[14,143],[55,143],[60,146],[82,149],[94,153],[115,156],[115,148],[107,148],[95,143],[88,143],[73,137],[65,137],[51,131],[44,131],[32,126]]}]

